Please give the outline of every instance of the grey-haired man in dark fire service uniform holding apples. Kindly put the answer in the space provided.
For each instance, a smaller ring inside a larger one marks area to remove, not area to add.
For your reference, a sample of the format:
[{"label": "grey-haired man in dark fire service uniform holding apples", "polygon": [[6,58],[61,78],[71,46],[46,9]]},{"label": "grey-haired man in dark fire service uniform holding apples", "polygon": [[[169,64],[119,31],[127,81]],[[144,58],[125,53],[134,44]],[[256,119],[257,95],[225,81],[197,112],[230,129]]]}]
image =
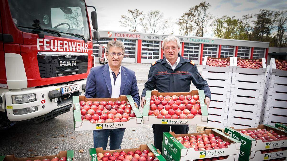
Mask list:
[{"label": "grey-haired man in dark fire service uniform holding apples", "polygon": [[[152,63],[141,94],[141,107],[144,106],[146,91],[159,92],[190,92],[191,81],[197,89],[204,90],[207,107],[209,107],[211,92],[206,80],[198,72],[195,63],[183,58],[179,53],[180,43],[175,36],[168,36],[162,42],[162,49],[166,58]],[[152,125],[154,145],[162,150],[162,136],[164,132],[174,131],[175,134],[188,133],[188,125]]]}]

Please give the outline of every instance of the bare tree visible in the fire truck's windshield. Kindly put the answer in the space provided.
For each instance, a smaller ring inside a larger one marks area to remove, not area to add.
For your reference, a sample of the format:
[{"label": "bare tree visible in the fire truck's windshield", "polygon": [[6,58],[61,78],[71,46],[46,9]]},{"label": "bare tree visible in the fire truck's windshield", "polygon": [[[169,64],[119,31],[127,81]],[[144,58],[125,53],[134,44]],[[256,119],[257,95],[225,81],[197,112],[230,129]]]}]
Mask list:
[{"label": "bare tree visible in the fire truck's windshield", "polygon": [[81,11],[79,11],[79,8],[72,9],[71,14],[65,14],[65,19],[71,24],[72,28],[80,28],[80,26],[83,25],[83,17]]}]

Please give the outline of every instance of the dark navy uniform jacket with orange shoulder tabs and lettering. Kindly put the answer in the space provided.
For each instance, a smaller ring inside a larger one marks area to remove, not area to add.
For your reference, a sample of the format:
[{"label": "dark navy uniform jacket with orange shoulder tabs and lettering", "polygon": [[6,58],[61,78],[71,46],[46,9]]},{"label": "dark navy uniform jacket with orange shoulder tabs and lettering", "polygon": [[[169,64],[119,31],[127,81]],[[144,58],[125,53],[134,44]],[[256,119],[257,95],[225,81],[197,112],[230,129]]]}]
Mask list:
[{"label": "dark navy uniform jacket with orange shoulder tabs and lettering", "polygon": [[211,92],[206,80],[198,72],[196,65],[191,60],[179,55],[180,61],[172,70],[166,58],[154,62],[150,66],[148,81],[145,83],[141,97],[146,96],[146,91],[158,90],[159,92],[190,92],[190,83],[197,89],[204,90],[205,96],[211,99]]}]

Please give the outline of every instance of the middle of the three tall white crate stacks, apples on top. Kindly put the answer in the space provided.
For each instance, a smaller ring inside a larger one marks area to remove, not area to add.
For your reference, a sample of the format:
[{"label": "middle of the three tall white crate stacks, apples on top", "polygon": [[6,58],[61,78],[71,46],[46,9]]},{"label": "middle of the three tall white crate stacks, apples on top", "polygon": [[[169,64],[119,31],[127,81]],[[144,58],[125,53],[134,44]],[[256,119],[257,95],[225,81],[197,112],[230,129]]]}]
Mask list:
[{"label": "middle of the three tall white crate stacks, apples on top", "polygon": [[[257,127],[261,121],[266,61],[262,68],[240,68],[234,57],[227,126],[235,129]],[[256,60],[256,59],[248,59]]]}]

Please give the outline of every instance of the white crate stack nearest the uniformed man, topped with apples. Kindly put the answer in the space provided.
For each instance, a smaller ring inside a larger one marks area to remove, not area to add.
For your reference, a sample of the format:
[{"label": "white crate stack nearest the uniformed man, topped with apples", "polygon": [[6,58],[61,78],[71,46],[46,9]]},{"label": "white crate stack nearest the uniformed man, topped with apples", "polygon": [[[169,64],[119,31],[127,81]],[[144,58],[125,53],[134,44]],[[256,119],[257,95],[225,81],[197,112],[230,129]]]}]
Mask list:
[{"label": "white crate stack nearest the uniformed man, topped with apples", "polygon": [[211,91],[211,102],[208,108],[208,124],[204,126],[222,129],[227,125],[233,57],[212,58],[228,59],[230,66],[226,67],[206,65],[206,61],[209,58],[210,57],[205,56],[202,65],[202,76],[207,81]]}]

